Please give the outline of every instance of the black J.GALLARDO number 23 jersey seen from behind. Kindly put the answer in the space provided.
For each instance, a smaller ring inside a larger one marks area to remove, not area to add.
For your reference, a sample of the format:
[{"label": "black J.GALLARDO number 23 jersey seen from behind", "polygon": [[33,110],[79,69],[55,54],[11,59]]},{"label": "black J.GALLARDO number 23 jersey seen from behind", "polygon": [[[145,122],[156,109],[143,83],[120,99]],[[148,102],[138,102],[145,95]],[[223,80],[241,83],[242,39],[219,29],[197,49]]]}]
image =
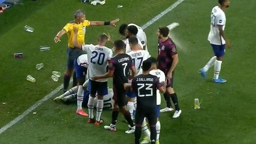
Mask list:
[{"label": "black J.GALLARDO number 23 jersey seen from behind", "polygon": [[137,108],[140,110],[152,110],[156,108],[156,90],[159,80],[155,75],[141,74],[133,78],[131,87],[137,97]]}]

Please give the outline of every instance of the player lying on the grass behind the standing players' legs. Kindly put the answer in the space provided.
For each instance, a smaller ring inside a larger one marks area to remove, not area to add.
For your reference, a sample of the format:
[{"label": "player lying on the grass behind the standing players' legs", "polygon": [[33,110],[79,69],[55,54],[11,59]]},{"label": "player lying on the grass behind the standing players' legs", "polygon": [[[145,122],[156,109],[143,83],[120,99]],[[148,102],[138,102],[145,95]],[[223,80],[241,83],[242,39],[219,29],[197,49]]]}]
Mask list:
[{"label": "player lying on the grass behind the standing players' legs", "polygon": [[[84,89],[83,102],[82,102],[83,107],[87,107],[89,96],[90,96],[90,92],[88,90],[88,82],[89,80],[87,80],[83,84],[83,89]],[[72,87],[61,96],[57,96],[54,100],[63,101],[66,104],[71,103],[74,99],[77,99],[77,91],[78,91],[78,86]],[[111,88],[108,88],[107,91],[108,91],[108,94],[104,96],[104,99],[103,99],[103,109],[107,109],[107,108],[112,109],[114,105],[114,100],[112,99],[114,92],[113,92],[113,89]],[[97,98],[95,98],[95,102],[94,102],[94,107],[96,106],[97,106]]]}]

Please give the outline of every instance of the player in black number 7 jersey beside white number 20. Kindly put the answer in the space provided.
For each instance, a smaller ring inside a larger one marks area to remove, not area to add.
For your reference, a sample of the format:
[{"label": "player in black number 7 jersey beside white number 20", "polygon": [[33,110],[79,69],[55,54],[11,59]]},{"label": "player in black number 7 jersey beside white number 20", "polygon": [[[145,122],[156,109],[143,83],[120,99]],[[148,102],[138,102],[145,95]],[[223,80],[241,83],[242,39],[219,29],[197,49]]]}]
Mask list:
[{"label": "player in black number 7 jersey beside white number 20", "polygon": [[126,101],[126,90],[123,84],[128,83],[128,75],[130,70],[134,75],[136,70],[133,65],[132,59],[129,55],[124,53],[125,43],[122,40],[117,40],[114,43],[114,49],[116,51],[116,56],[111,58],[111,63],[109,64],[109,71],[104,75],[95,76],[92,79],[106,79],[113,77],[113,90],[114,90],[114,108],[112,110],[112,122],[110,125],[105,125],[104,129],[116,131],[116,121],[118,118],[119,109],[125,116],[126,121],[130,125],[130,129],[126,133],[130,134],[135,131],[135,125],[131,119],[130,113],[127,109]]}]

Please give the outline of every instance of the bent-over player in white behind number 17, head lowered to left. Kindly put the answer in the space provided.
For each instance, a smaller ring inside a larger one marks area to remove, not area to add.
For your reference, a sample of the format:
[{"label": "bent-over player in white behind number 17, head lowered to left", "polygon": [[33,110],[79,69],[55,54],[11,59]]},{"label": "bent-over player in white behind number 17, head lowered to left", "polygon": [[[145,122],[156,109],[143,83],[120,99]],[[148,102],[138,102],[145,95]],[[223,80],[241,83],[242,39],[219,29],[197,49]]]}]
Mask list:
[{"label": "bent-over player in white behind number 17, head lowered to left", "polygon": [[119,27],[119,33],[122,35],[122,36],[126,36],[126,30],[127,30],[127,27],[128,26],[136,26],[137,29],[138,29],[138,33],[136,34],[136,37],[138,39],[140,39],[142,45],[143,45],[143,49],[147,51],[147,36],[146,36],[146,33],[143,31],[143,29],[138,26],[137,24],[122,24],[120,27]]}]

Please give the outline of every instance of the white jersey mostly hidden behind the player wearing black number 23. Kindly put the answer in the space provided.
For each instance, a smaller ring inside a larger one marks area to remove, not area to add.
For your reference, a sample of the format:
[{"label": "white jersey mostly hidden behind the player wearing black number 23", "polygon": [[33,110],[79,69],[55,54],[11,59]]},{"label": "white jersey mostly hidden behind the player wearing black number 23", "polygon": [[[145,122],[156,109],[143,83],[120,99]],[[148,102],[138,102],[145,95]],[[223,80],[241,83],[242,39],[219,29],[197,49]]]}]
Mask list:
[{"label": "white jersey mostly hidden behind the player wearing black number 23", "polygon": [[[162,70],[150,70],[149,74],[156,75],[160,83],[165,82],[165,74]],[[158,89],[156,91],[156,105],[161,105],[161,94]]]}]

